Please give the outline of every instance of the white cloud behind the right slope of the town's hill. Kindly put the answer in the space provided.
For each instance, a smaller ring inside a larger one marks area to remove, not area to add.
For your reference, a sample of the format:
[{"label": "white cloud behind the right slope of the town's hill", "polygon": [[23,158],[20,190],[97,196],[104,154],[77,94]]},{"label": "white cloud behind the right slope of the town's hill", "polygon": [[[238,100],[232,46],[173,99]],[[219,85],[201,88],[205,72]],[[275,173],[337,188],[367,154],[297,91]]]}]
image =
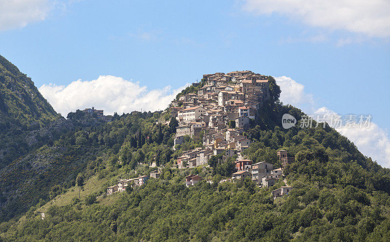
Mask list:
[{"label": "white cloud behind the right slope of the town's hill", "polygon": [[[301,108],[308,115],[328,115],[335,117],[340,115],[327,107],[318,108],[313,96],[304,91],[305,86],[292,80],[289,77],[275,77],[275,80],[282,90],[280,99],[284,103],[290,103]],[[360,114],[356,114],[359,116]],[[368,114],[366,114],[368,115]],[[316,116],[314,116],[315,118]],[[356,117],[359,121],[359,117]],[[328,121],[328,123],[332,123]],[[376,123],[370,122],[367,127],[349,127],[344,123],[337,127],[336,130],[352,141],[363,155],[371,157],[385,167],[390,167],[390,139],[389,132],[380,128]]]}]

